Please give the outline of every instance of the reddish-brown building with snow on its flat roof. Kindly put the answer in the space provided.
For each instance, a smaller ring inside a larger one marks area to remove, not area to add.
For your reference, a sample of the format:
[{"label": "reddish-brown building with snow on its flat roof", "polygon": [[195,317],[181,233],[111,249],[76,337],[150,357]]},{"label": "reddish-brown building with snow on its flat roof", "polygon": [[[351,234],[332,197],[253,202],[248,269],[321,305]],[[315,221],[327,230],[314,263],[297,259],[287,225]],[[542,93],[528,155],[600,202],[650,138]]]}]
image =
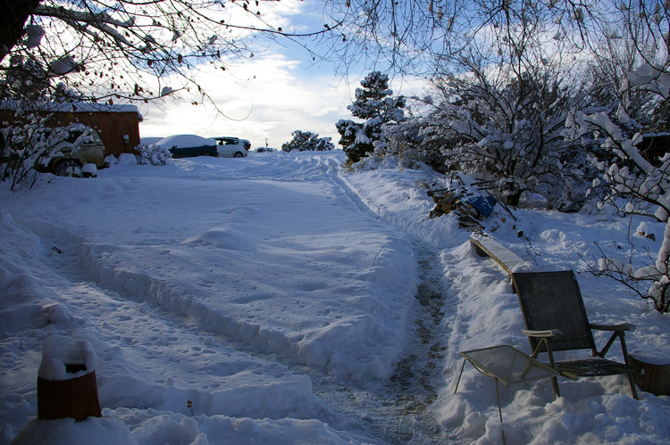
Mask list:
[{"label": "reddish-brown building with snow on its flat roof", "polygon": [[[0,103],[0,126],[13,122],[16,105]],[[135,105],[108,105],[102,103],[46,103],[35,110],[48,116],[48,127],[62,127],[76,122],[96,130],[105,144],[105,154],[117,158],[121,153],[135,153],[139,145],[139,122],[142,119]]]}]

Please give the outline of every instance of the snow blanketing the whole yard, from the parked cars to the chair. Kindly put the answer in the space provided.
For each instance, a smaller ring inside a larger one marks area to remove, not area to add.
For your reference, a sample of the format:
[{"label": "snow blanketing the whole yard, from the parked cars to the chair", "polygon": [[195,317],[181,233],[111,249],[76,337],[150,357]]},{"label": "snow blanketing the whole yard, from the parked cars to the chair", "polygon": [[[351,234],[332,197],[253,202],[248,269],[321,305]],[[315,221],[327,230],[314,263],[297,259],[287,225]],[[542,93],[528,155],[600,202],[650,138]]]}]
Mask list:
[{"label": "snow blanketing the whole yard, from the parked cars to the chair", "polygon": [[[632,400],[621,376],[562,379],[556,401],[549,381],[501,386],[504,424],[493,381],[472,367],[454,395],[460,350],[529,352],[507,274],[454,215],[428,218],[429,172],[350,172],[344,160],[121,160],[93,179],[46,177],[17,193],[0,183],[0,444],[670,439],[670,398]],[[581,270],[596,241],[624,258],[639,223],[498,209],[486,226],[527,268]],[[647,234],[662,231],[647,221]],[[667,316],[606,278],[578,280],[591,321],[631,322],[630,350],[670,356]],[[36,419],[52,335],[92,345],[103,417]],[[412,409],[406,380],[422,373],[433,397]]]}]

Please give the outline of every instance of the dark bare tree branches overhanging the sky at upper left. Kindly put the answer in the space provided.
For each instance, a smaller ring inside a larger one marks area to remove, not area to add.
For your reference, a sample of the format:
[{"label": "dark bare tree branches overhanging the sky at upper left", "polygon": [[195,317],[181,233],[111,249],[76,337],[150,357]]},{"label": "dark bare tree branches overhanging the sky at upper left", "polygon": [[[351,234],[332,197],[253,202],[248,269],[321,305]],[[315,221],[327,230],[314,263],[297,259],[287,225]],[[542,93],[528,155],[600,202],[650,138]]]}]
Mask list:
[{"label": "dark bare tree branches overhanging the sky at upper left", "polygon": [[[76,100],[146,101],[188,89],[207,97],[197,69],[227,70],[259,51],[256,37],[331,35],[284,30],[274,2],[261,0],[3,0],[0,76],[19,66],[44,68],[52,87]],[[272,22],[271,22],[272,21]],[[14,62],[10,62],[14,61]],[[11,65],[13,64],[13,67]],[[29,72],[34,78],[34,71]],[[4,77],[4,76],[2,76]],[[13,82],[4,82],[12,92]],[[25,87],[25,86],[23,86]]]}]

